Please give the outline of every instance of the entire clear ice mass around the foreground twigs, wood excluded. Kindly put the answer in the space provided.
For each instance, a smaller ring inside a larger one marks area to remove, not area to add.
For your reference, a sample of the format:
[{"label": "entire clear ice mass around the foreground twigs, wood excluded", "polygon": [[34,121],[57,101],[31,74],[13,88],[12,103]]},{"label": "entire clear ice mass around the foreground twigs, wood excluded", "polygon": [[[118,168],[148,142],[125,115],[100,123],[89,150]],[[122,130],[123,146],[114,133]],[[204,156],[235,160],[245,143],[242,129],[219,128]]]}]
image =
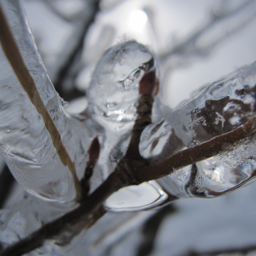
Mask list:
[{"label": "entire clear ice mass around the foreground twigs, wood excluded", "polygon": [[[155,70],[154,55],[135,41],[107,50],[100,58],[88,90],[88,108],[80,115],[65,111],[46,73],[33,36],[18,2],[1,0],[11,29],[37,89],[52,116],[62,141],[75,162],[79,179],[95,137],[100,155],[91,179],[91,191],[102,183],[125,154],[136,120],[139,81]],[[242,126],[255,116],[256,63],[207,86],[175,112],[156,96],[153,124],[141,136],[140,153],[151,163],[199,145]],[[17,181],[31,194],[55,201],[76,197],[74,181],[53,146],[37,113],[0,49],[0,153]],[[167,113],[171,113],[167,115]],[[174,197],[214,197],[254,177],[255,139],[234,146],[231,152],[176,170],[156,182],[123,188],[107,202],[109,210],[138,210]]]}]

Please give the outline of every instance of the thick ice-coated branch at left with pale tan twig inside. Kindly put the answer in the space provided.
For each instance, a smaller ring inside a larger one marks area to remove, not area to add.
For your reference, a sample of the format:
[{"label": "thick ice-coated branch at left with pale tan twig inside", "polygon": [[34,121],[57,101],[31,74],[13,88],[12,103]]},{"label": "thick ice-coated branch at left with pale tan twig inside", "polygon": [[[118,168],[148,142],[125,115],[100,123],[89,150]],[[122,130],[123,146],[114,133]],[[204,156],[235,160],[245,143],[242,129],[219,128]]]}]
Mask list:
[{"label": "thick ice-coated branch at left with pale tan twig inside", "polygon": [[22,6],[18,1],[0,3],[0,153],[30,193],[72,201],[81,194],[77,174],[84,172],[87,129],[65,112]]}]

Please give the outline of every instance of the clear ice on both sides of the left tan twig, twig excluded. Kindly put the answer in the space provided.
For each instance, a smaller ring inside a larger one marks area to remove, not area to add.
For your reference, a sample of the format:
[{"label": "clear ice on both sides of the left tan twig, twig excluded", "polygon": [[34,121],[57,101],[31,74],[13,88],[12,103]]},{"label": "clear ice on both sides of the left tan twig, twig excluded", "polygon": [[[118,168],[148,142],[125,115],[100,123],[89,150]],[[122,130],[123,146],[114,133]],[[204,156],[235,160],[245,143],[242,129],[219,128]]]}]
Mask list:
[{"label": "clear ice on both sides of the left tan twig, twig excluded", "polygon": [[[36,87],[76,164],[81,178],[86,165],[87,129],[63,108],[35,46],[18,1],[1,1],[12,33]],[[41,115],[19,83],[0,45],[0,153],[16,180],[30,193],[55,201],[76,197],[70,170],[60,161]],[[81,140],[83,138],[83,140]],[[79,146],[78,146],[79,145]]]}]

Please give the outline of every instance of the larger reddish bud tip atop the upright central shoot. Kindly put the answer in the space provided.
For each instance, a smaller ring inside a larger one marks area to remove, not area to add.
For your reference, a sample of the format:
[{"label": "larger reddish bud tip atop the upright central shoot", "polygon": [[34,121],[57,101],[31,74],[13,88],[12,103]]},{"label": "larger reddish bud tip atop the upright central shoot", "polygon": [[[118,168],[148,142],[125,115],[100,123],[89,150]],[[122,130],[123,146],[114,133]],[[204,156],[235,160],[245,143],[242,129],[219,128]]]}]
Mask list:
[{"label": "larger reddish bud tip atop the upright central shoot", "polygon": [[140,80],[139,93],[141,95],[157,95],[159,91],[159,81],[156,78],[156,71],[146,72]]}]

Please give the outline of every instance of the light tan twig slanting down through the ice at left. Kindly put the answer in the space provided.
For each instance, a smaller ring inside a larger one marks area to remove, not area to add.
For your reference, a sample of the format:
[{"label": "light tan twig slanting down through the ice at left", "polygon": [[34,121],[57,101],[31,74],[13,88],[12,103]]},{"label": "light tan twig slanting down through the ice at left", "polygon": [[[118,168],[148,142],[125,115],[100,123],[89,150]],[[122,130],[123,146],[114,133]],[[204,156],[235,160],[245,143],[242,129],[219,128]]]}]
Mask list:
[{"label": "light tan twig slanting down through the ice at left", "polygon": [[44,102],[36,88],[35,82],[30,75],[26,64],[23,60],[22,55],[19,52],[18,46],[16,44],[15,38],[12,35],[11,29],[9,27],[7,18],[4,14],[2,7],[0,6],[0,42],[2,48],[5,52],[7,59],[9,60],[13,71],[15,72],[20,84],[22,85],[25,92],[28,94],[32,104],[35,106],[38,113],[44,119],[47,130],[50,133],[54,147],[56,148],[57,154],[61,162],[69,167],[70,172],[74,178],[74,184],[77,193],[77,200],[81,197],[81,186],[78,180],[75,163],[71,159],[66,147],[63,145],[61,136],[52,117],[46,109]]}]

